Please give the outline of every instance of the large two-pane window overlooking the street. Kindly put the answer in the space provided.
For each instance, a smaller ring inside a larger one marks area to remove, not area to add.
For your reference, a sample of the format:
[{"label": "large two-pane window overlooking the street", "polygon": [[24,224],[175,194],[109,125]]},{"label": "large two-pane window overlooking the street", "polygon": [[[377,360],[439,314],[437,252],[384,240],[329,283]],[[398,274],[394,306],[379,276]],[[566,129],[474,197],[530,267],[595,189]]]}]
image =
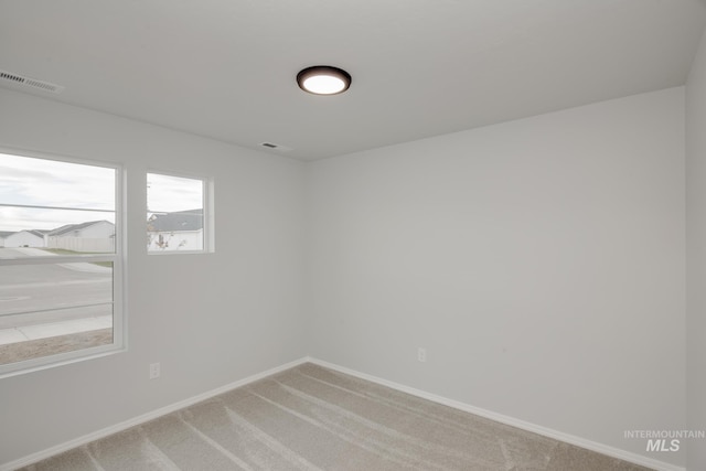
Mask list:
[{"label": "large two-pane window overlooking the street", "polygon": [[0,376],[122,347],[120,171],[0,153]]}]

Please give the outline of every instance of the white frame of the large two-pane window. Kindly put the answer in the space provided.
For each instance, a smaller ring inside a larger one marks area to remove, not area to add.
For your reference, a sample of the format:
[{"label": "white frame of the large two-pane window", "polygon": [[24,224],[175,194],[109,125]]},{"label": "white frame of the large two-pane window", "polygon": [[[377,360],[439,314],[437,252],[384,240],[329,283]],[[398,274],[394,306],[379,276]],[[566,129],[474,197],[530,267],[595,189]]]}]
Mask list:
[{"label": "white frame of the large two-pane window", "polygon": [[[17,265],[41,265],[41,264],[71,264],[71,263],[113,263],[113,343],[92,346],[71,352],[57,353],[41,356],[38,358],[23,360],[15,363],[0,365],[0,378],[46,370],[55,366],[97,358],[127,350],[127,309],[125,287],[127,286],[127,250],[126,250],[126,213],[125,195],[125,171],[122,165],[106,163],[101,161],[78,159],[74,157],[60,156],[56,153],[35,152],[21,149],[0,147],[0,152],[15,157],[51,160],[56,162],[76,163],[82,165],[100,167],[115,171],[115,253],[101,255],[49,255],[46,257],[36,256],[31,258],[0,259],[0,267]],[[49,207],[49,206],[40,206]],[[74,208],[69,208],[74,210]]]}]

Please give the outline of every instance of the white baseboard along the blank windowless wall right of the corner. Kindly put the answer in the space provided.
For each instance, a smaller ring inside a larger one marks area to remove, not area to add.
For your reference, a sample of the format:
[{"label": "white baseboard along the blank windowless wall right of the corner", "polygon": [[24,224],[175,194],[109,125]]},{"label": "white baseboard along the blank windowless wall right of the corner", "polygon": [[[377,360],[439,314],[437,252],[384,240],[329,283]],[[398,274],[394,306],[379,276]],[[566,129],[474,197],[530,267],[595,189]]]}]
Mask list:
[{"label": "white baseboard along the blank windowless wall right of the corner", "polygon": [[544,437],[553,438],[555,440],[564,441],[566,443],[575,445],[577,447],[585,448],[587,450],[596,451],[601,454],[606,454],[609,457],[618,458],[623,461],[628,461],[634,464],[640,464],[646,468],[651,468],[657,471],[686,471],[685,468],[678,467],[676,464],[665,463],[664,461],[654,460],[649,457],[643,457],[642,454],[632,453],[630,451],[621,450],[619,448],[609,447],[603,443],[598,443],[596,441],[587,440],[581,437],[576,437],[574,435],[565,433],[558,430],[553,430],[550,428],[542,427],[536,424],[531,424],[524,420],[520,420],[513,417],[504,416],[502,414],[493,413],[491,410],[481,409],[479,407],[470,406],[468,404],[460,403],[453,399],[447,399],[446,397],[437,396],[436,394],[430,394],[420,389],[415,389],[413,387],[408,387],[402,384],[393,383],[387,379],[378,378],[376,376],[371,376],[365,373],[360,373],[354,370],[350,370],[343,366],[339,366],[333,363],[324,362],[322,360],[307,358],[310,363],[323,366],[329,370],[334,370],[351,376],[359,377],[361,379],[366,379],[372,383],[379,384],[382,386],[387,386],[393,389],[397,389],[403,393],[410,394],[413,396],[421,397],[422,399],[428,399],[434,403],[442,404],[445,406],[453,407],[454,409],[463,410],[466,413],[474,414],[480,417],[484,417],[486,419],[495,420],[501,424],[505,424],[512,427],[516,427],[526,431],[531,431],[537,435],[542,435]]}]

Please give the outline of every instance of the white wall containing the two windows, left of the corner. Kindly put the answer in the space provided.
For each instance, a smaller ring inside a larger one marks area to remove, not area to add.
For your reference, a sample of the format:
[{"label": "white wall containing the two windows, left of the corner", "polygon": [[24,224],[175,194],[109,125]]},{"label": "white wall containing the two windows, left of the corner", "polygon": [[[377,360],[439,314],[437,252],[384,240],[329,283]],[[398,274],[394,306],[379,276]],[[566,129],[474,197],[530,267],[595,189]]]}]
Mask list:
[{"label": "white wall containing the two windows, left of the corner", "polygon": [[[129,351],[0,381],[0,464],[307,353],[303,164],[3,89],[0,109],[3,147],[122,163],[129,214]],[[147,255],[148,169],[215,178],[215,254]]]}]

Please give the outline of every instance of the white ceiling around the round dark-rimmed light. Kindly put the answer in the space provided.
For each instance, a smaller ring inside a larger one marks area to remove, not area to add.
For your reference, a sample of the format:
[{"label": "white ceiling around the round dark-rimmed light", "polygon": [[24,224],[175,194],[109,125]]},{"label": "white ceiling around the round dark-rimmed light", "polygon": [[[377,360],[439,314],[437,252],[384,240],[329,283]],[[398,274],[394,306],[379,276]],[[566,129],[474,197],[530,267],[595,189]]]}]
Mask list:
[{"label": "white ceiling around the round dark-rimmed light", "polygon": [[[315,160],[683,85],[705,25],[699,0],[0,0],[0,69]],[[319,64],[349,92],[301,92]]]}]

